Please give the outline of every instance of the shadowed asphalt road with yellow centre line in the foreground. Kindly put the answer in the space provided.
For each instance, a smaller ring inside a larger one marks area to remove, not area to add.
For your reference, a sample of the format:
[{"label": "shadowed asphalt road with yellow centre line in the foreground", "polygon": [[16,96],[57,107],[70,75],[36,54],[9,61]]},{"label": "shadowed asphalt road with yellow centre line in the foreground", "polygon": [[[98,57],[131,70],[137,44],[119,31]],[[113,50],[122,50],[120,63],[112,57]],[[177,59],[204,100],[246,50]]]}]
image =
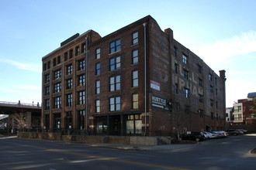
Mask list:
[{"label": "shadowed asphalt road with yellow centre line in the foreground", "polygon": [[138,148],[2,137],[0,169],[256,169],[256,135]]}]

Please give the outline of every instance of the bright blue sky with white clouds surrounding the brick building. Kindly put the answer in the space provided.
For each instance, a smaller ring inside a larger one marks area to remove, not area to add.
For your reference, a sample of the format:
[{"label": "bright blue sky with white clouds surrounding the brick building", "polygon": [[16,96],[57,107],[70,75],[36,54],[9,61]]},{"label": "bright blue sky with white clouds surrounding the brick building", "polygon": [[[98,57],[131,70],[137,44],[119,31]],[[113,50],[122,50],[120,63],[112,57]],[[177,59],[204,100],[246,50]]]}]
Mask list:
[{"label": "bright blue sky with white clouds surrounding the brick building", "polygon": [[146,15],[217,74],[227,107],[256,91],[256,1],[0,0],[0,101],[41,103],[42,57],[88,29],[106,36]]}]

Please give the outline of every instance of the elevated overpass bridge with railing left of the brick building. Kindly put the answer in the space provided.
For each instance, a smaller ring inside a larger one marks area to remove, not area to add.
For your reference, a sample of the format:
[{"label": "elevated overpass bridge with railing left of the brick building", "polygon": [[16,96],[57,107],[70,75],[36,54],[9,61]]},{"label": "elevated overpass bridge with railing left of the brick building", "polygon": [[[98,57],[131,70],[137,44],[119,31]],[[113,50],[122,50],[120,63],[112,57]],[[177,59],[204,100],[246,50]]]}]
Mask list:
[{"label": "elevated overpass bridge with railing left of the brick building", "polygon": [[[22,115],[17,118],[17,115]],[[15,132],[23,124],[25,128],[40,128],[41,106],[19,102],[0,101],[0,128]]]}]

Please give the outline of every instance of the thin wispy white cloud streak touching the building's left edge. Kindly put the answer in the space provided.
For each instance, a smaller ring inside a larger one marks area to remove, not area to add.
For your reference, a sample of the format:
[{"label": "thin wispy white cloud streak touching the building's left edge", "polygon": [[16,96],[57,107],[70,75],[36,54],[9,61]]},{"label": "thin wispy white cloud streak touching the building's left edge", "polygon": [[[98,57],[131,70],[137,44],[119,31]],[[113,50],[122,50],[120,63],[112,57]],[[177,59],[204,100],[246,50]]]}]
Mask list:
[{"label": "thin wispy white cloud streak touching the building's left edge", "polygon": [[28,70],[28,71],[33,71],[37,73],[41,73],[41,65],[40,64],[35,64],[35,63],[19,63],[18,61],[12,60],[12,59],[3,59],[0,58],[0,63],[7,63],[12,66],[16,66],[17,68],[21,70]]}]

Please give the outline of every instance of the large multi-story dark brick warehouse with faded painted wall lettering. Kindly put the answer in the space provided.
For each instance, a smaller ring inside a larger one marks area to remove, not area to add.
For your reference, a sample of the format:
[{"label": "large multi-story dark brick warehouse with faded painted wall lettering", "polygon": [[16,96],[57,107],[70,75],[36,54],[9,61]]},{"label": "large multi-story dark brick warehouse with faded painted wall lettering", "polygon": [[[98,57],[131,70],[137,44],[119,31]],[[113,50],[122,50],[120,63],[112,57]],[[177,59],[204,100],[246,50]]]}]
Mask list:
[{"label": "large multi-story dark brick warehouse with faded painted wall lettering", "polygon": [[105,37],[89,30],[61,42],[43,57],[42,78],[42,124],[50,131],[170,135],[225,127],[225,71],[216,75],[150,15]]}]

